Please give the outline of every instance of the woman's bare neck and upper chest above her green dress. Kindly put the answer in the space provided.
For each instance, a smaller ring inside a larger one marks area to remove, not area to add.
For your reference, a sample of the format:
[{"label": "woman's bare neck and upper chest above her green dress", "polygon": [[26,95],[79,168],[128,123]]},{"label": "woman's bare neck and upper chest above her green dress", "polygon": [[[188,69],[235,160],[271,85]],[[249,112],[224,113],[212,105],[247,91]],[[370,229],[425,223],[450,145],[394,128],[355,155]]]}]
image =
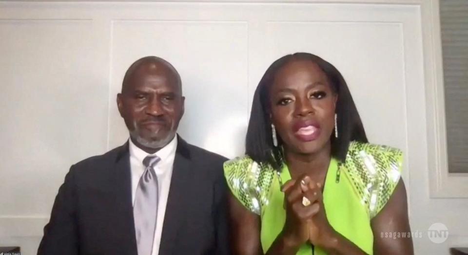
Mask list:
[{"label": "woman's bare neck and upper chest above her green dress", "polygon": [[284,156],[292,179],[307,174],[316,182],[323,184],[330,165],[331,144],[328,143],[320,151],[313,154],[296,153],[286,149]]}]

